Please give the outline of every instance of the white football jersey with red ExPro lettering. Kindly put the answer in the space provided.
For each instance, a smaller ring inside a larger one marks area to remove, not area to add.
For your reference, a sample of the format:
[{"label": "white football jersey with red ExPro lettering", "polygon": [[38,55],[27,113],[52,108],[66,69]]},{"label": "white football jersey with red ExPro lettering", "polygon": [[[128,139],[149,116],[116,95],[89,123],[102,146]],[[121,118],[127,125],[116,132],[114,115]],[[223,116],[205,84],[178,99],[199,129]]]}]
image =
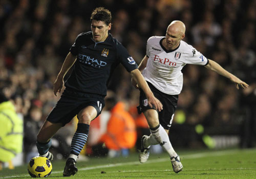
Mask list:
[{"label": "white football jersey with red ExPro lettering", "polygon": [[164,38],[164,36],[153,36],[147,40],[148,60],[142,75],[159,91],[169,95],[178,95],[183,85],[181,73],[183,66],[187,63],[206,65],[208,59],[182,40],[177,49],[168,51],[162,45]]}]

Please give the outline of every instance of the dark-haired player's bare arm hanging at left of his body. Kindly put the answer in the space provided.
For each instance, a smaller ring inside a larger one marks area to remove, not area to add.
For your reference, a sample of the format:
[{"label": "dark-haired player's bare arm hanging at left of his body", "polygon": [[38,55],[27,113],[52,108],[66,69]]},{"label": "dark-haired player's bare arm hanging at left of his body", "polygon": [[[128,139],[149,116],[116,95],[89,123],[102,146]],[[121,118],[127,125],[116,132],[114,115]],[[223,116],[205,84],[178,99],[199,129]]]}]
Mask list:
[{"label": "dark-haired player's bare arm hanging at left of his body", "polygon": [[57,96],[57,92],[61,92],[61,89],[63,87],[64,84],[64,77],[67,74],[67,72],[69,71],[69,69],[71,68],[71,66],[73,66],[73,64],[76,61],[76,56],[72,55],[70,52],[67,55],[65,61],[62,64],[62,67],[59,71],[59,74],[53,84],[53,93],[55,96]]}]

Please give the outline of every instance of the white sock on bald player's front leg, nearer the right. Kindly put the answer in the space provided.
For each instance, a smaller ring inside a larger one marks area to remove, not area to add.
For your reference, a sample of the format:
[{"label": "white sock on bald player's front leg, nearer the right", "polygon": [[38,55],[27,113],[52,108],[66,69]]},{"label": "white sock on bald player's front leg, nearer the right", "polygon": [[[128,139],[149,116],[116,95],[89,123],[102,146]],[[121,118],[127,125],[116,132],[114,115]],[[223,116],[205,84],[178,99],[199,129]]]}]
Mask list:
[{"label": "white sock on bald player's front leg, nearer the right", "polygon": [[156,141],[168,152],[169,156],[177,156],[172,144],[170,143],[169,136],[164,128],[159,125],[157,129],[150,130]]}]

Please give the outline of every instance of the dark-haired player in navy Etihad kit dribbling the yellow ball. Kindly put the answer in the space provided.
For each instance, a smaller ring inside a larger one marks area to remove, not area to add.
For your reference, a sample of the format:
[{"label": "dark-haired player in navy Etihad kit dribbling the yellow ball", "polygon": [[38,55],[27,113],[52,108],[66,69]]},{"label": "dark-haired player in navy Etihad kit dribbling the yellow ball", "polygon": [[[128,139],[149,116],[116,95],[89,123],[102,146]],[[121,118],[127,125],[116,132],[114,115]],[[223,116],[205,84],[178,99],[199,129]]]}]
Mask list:
[{"label": "dark-haired player in navy Etihad kit dribbling the yellow ball", "polygon": [[63,176],[71,176],[77,172],[75,163],[87,141],[90,122],[101,113],[104,107],[108,80],[119,63],[130,72],[133,80],[144,91],[148,104],[156,110],[162,110],[161,102],[153,95],[138,70],[136,62],[122,44],[109,33],[111,18],[111,12],[102,7],[92,12],[92,31],[77,36],[63,62],[54,82],[55,95],[61,92],[63,78],[73,65],[74,69],[65,83],[65,91],[37,135],[36,145],[39,155],[52,160],[53,155],[49,152],[52,136],[77,115],[77,130],[72,139],[71,152]]}]

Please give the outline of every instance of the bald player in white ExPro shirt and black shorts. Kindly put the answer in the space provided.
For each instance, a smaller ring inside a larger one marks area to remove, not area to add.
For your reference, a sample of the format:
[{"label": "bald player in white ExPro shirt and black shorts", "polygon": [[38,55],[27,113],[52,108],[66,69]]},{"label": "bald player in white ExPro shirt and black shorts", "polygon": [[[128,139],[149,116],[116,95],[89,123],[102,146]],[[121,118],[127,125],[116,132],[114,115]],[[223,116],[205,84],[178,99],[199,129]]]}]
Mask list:
[{"label": "bald player in white ExPro shirt and black shorts", "polygon": [[[249,85],[227,72],[218,63],[207,59],[195,48],[182,39],[185,37],[185,25],[175,20],[167,28],[166,36],[153,36],[147,40],[146,56],[139,64],[139,70],[150,86],[152,92],[163,104],[159,113],[150,107],[143,91],[140,90],[139,113],[143,112],[150,126],[151,135],[141,139],[139,160],[147,161],[151,145],[160,144],[169,154],[174,172],[178,173],[183,166],[179,155],[169,141],[168,131],[173,122],[177,107],[178,95],[183,85],[182,68],[186,64],[204,65],[236,83],[237,88]],[[137,84],[133,81],[133,85]],[[138,86],[137,86],[138,87]]]}]

